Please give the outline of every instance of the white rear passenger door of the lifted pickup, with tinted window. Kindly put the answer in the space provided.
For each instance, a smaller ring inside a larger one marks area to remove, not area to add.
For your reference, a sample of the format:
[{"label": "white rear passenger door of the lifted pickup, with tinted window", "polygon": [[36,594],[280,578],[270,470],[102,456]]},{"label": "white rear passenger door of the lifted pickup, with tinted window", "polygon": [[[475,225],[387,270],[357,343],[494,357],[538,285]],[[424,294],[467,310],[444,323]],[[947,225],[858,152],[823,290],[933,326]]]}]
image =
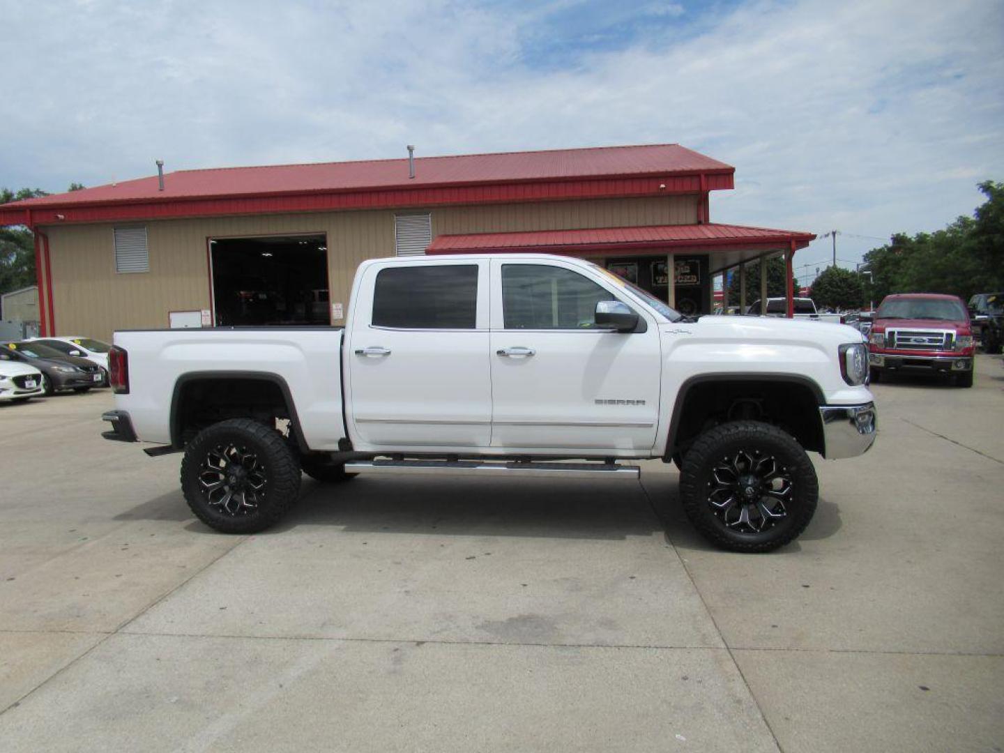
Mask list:
[{"label": "white rear passenger door of the lifted pickup, with tinted window", "polygon": [[488,262],[378,262],[357,291],[343,352],[355,449],[486,447]]}]

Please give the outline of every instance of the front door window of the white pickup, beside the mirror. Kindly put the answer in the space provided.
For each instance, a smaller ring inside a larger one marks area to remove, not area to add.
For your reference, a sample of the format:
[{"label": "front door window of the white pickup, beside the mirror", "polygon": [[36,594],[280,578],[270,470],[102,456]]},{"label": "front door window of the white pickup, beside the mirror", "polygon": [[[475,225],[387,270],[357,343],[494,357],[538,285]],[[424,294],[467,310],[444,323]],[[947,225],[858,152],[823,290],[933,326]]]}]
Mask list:
[{"label": "front door window of the white pickup, beside the mirror", "polygon": [[542,264],[502,266],[506,329],[580,329],[594,326],[596,303],[616,298],[577,272]]}]

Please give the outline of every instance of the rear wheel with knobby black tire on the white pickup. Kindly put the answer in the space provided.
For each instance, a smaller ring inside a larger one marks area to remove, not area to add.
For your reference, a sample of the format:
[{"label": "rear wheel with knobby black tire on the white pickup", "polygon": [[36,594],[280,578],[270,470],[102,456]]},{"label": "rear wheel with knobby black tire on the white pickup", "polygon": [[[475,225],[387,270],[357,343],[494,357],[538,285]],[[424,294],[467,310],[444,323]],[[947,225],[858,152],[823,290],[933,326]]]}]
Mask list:
[{"label": "rear wheel with knobby black tire on the white pickup", "polygon": [[182,491],[203,523],[222,533],[257,533],[296,501],[300,469],[283,437],[250,419],[202,430],[185,449]]}]

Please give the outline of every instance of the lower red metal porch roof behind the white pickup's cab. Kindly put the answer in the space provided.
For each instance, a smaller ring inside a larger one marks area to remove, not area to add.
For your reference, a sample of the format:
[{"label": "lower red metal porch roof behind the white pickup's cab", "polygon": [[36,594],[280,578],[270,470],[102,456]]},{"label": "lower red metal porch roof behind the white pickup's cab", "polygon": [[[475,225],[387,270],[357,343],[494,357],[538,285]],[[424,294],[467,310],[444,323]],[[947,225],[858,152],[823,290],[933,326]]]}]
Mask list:
[{"label": "lower red metal porch roof behind the white pickup's cab", "polygon": [[440,235],[429,246],[430,254],[483,252],[560,251],[576,255],[592,251],[632,251],[652,248],[709,249],[804,248],[813,233],[745,225],[656,225],[648,227],[596,228],[592,230],[543,230],[520,233],[476,233]]}]

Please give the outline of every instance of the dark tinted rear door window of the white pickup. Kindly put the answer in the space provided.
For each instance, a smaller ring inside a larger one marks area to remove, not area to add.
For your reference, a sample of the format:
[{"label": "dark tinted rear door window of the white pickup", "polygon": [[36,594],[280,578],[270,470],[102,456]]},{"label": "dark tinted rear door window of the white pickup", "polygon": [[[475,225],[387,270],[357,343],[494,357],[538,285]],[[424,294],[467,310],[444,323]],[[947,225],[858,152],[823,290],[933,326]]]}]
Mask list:
[{"label": "dark tinted rear door window of the white pickup", "polygon": [[388,267],[376,273],[372,323],[409,329],[474,329],[475,264]]}]

